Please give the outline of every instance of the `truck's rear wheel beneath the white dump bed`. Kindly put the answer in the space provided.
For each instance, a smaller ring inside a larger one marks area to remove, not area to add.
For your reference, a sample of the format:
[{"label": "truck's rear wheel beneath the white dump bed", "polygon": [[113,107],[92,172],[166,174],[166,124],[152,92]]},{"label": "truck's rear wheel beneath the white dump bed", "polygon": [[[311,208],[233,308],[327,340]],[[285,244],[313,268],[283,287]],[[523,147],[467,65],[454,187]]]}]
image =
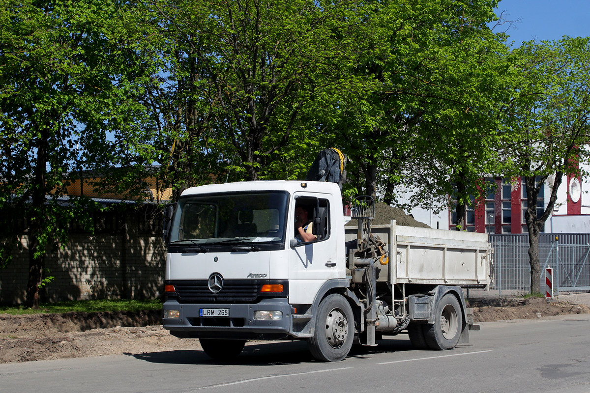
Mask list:
[{"label": "truck's rear wheel beneath the white dump bed", "polygon": [[463,316],[459,301],[452,293],[442,296],[438,302],[434,321],[424,325],[424,338],[428,346],[437,351],[455,348],[461,336]]}]

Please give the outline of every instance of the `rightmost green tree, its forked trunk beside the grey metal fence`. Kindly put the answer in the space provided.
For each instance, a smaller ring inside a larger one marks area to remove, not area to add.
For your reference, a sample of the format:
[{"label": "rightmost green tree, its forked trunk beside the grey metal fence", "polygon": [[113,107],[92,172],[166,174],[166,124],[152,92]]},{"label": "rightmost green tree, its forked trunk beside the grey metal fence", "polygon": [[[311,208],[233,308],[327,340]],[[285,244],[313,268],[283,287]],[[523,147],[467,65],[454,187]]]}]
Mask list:
[{"label": "rightmost green tree, its forked trunk beside the grey metal fence", "polygon": [[[590,163],[590,38],[525,42],[512,57],[524,82],[510,107],[505,174],[520,177],[526,189],[530,290],[536,293],[541,274],[539,233],[553,212],[563,176],[579,176],[578,163]],[[549,199],[538,206],[545,184]]]}]

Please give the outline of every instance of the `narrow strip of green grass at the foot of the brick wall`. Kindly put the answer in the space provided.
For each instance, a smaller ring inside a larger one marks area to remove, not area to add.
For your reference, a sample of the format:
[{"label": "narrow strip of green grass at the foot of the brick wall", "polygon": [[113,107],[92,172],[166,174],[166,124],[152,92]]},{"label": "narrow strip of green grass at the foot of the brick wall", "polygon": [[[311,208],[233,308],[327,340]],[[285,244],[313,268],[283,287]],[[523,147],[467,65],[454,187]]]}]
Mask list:
[{"label": "narrow strip of green grass at the foot of the brick wall", "polygon": [[162,302],[152,300],[70,300],[67,302],[41,303],[39,308],[24,306],[0,306],[0,313],[12,315],[65,312],[117,312],[117,311],[149,311],[162,309]]}]

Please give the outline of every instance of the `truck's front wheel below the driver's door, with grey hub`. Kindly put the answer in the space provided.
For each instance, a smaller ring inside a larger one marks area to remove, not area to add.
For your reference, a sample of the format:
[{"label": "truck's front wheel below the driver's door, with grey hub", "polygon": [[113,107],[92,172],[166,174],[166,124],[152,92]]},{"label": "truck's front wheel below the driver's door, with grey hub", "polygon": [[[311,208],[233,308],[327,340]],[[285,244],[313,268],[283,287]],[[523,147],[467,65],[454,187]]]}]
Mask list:
[{"label": "truck's front wheel below the driver's door, with grey hub", "polygon": [[320,303],[315,333],[307,341],[314,358],[323,362],[341,361],[348,355],[355,336],[355,319],[350,304],[333,293]]}]

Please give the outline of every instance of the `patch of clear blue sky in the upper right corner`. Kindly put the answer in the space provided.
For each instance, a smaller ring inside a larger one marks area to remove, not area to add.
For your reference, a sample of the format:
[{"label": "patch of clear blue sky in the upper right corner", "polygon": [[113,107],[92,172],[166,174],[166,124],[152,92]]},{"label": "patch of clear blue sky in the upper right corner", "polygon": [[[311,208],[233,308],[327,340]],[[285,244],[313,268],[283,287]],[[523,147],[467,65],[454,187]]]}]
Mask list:
[{"label": "patch of clear blue sky in the upper right corner", "polygon": [[590,0],[501,0],[496,14],[501,11],[507,20],[520,19],[507,31],[515,47],[531,39],[590,36]]}]

